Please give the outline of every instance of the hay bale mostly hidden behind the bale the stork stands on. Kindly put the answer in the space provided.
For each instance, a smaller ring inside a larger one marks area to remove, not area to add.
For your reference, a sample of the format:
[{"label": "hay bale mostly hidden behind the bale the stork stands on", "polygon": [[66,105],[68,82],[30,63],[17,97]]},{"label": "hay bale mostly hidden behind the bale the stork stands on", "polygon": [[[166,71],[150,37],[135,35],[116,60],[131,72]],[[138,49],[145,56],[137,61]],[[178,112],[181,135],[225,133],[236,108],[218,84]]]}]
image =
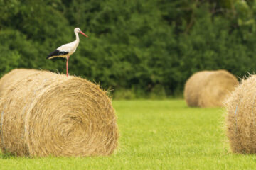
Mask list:
[{"label": "hay bale mostly hidden behind the bale the stork stands on", "polygon": [[4,96],[6,89],[15,84],[16,81],[24,79],[34,72],[36,69],[13,69],[8,74],[4,74],[0,79],[0,97]]}]

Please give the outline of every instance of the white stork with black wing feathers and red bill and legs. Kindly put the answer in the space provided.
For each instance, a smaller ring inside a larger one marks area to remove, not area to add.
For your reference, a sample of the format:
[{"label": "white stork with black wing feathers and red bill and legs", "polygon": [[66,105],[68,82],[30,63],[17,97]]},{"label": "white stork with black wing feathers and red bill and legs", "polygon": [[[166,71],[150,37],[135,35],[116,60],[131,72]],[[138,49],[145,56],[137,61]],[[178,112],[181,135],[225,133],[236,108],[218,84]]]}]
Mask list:
[{"label": "white stork with black wing feathers and red bill and legs", "polygon": [[67,77],[68,77],[68,59],[70,57],[70,55],[72,55],[76,48],[78,47],[79,44],[79,36],[78,33],[81,33],[82,35],[85,35],[85,37],[88,37],[85,33],[82,33],[82,31],[80,30],[80,28],[75,28],[74,30],[75,32],[75,41],[70,42],[68,44],[65,45],[61,45],[60,47],[58,47],[55,51],[50,52],[50,55],[48,55],[48,57],[46,59],[52,59],[54,57],[64,57],[67,59],[67,64],[66,64],[66,69],[67,69]]}]

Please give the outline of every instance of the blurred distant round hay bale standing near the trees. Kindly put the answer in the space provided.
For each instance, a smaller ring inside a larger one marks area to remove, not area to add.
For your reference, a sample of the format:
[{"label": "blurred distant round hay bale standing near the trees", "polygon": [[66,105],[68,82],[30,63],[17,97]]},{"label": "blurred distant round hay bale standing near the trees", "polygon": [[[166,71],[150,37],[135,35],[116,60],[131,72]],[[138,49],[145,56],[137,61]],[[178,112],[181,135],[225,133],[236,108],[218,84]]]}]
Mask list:
[{"label": "blurred distant round hay bale standing near the trees", "polygon": [[237,85],[238,79],[225,70],[197,72],[186,81],[184,97],[191,107],[223,106],[225,97]]}]

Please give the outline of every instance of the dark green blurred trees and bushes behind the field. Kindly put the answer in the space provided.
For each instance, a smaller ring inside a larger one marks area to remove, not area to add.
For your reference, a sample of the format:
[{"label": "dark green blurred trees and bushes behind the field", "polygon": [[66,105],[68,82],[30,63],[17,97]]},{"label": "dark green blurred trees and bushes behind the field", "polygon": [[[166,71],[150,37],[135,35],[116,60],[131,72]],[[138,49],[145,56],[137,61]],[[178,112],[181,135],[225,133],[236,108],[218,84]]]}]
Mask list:
[{"label": "dark green blurred trees and bushes behind the field", "polygon": [[65,72],[64,59],[46,57],[79,27],[89,38],[80,36],[70,74],[125,98],[165,98],[203,69],[254,72],[255,14],[255,1],[240,0],[0,0],[0,72]]}]

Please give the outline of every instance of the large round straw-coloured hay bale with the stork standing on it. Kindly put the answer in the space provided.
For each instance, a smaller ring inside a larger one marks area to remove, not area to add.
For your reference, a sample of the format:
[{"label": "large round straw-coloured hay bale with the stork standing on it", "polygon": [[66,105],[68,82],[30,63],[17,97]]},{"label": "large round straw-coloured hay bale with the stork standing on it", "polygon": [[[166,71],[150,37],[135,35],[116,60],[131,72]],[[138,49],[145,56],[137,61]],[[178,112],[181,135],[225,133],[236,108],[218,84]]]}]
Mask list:
[{"label": "large round straw-coloured hay bale with the stork standing on it", "polygon": [[109,155],[119,137],[112,102],[100,86],[46,71],[6,89],[0,120],[1,150],[16,155]]}]

